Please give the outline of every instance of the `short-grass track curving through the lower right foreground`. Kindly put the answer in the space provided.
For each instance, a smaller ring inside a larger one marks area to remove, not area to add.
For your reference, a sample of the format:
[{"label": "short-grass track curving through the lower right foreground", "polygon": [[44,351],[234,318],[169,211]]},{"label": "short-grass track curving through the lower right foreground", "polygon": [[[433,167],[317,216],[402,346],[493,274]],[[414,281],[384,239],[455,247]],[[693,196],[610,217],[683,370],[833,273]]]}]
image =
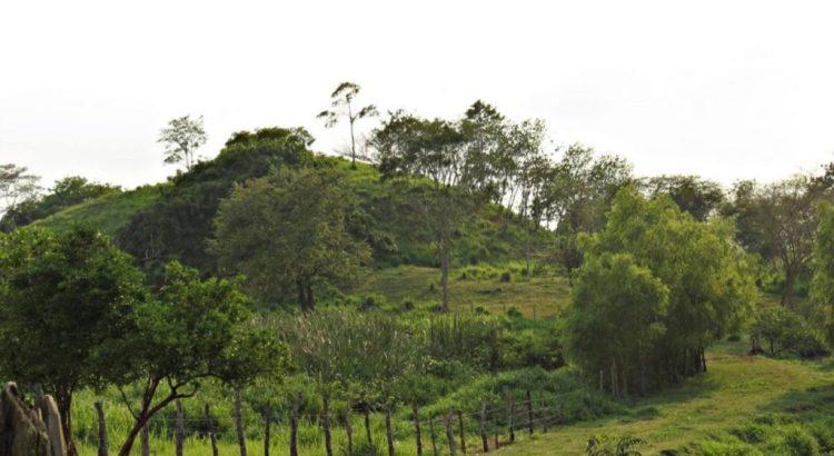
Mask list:
[{"label": "short-grass track curving through the lower right foreground", "polygon": [[[725,344],[708,357],[708,373],[684,386],[637,400],[629,413],[578,423],[506,447],[503,455],[578,455],[594,435],[633,435],[643,454],[689,447],[694,454],[785,454],[738,440],[743,450],[707,450],[717,439],[737,440],[755,420],[802,423],[834,413],[831,361],[777,360],[744,354],[743,343]],[[775,417],[775,418],[774,418]],[[774,428],[775,429],[775,428]],[[776,429],[777,430],[777,429]],[[702,446],[693,446],[693,443]],[[712,446],[711,446],[712,445]],[[722,444],[723,445],[723,444]],[[773,443],[767,443],[773,445]],[[693,449],[697,448],[697,449]],[[787,454],[791,454],[790,452]]]}]

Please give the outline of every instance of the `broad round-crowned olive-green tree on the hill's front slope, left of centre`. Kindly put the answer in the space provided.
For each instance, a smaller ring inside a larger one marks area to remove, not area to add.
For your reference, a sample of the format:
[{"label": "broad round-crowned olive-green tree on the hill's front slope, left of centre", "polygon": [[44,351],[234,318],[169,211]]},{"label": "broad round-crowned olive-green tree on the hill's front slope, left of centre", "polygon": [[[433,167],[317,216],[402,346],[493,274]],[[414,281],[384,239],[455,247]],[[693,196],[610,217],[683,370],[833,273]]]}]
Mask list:
[{"label": "broad round-crowned olive-green tree on the hill's front slope, left of centre", "polygon": [[212,242],[226,270],[242,272],[264,299],[298,296],[312,310],[315,288],[348,282],[370,259],[350,232],[356,200],[336,169],[280,170],[238,187],[220,205]]}]

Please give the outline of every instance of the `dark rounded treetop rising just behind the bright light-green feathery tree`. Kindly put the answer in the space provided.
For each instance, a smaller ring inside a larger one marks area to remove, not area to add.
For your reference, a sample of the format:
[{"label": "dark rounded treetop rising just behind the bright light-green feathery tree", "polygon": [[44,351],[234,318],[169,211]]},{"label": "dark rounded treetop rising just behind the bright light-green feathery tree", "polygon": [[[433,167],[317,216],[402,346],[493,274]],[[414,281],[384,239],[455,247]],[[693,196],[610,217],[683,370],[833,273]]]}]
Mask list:
[{"label": "dark rounded treetop rising just behind the bright light-green feathery tree", "polygon": [[648,195],[668,195],[681,210],[704,221],[716,214],[724,202],[724,190],[717,182],[697,176],[657,176],[644,179]]}]

